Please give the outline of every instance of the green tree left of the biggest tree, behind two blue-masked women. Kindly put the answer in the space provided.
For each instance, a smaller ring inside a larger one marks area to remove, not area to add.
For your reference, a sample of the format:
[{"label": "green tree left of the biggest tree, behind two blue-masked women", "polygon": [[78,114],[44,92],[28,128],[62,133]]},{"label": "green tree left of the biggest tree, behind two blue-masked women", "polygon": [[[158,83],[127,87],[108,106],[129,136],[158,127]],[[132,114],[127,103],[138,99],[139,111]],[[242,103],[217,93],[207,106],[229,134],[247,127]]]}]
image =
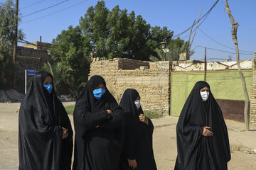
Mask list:
[{"label": "green tree left of the biggest tree, behind two blue-masked women", "polygon": [[[78,96],[82,84],[87,81],[90,69],[90,38],[87,35],[82,36],[80,27],[68,27],[62,33],[53,39],[53,45],[50,49],[50,55],[55,61],[52,73],[58,75],[57,89],[61,86],[68,86],[72,96]],[[50,69],[50,67],[45,67]]]}]

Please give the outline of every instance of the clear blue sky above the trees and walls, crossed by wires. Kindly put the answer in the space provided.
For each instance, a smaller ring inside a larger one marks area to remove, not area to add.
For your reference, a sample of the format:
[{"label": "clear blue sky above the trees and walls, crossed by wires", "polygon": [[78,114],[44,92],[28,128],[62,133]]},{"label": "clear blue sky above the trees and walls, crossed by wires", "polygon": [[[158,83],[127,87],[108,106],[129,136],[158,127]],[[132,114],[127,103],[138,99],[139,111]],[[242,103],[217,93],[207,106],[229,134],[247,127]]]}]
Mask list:
[{"label": "clear blue sky above the trees and walls, crossed by wires", "polygon": [[[19,0],[20,13],[26,16],[28,13],[33,13],[42,8],[58,4],[63,0],[45,0],[34,6],[23,8],[34,4],[41,0]],[[82,0],[80,0],[82,1]],[[48,10],[41,11],[39,13],[33,14],[22,18],[22,22],[19,28],[23,30],[26,34],[26,40],[33,42],[39,40],[40,35],[42,35],[43,42],[51,42],[62,30],[68,28],[68,26],[78,26],[80,17],[83,16],[87,8],[90,6],[95,6],[97,1],[87,0],[78,6],[73,8],[68,8],[65,11],[60,11],[51,16],[38,19],[36,21],[31,21],[35,18],[46,16],[49,13],[59,11],[62,8],[68,6],[73,6],[78,4],[79,0],[76,1],[65,1],[63,4],[49,8]],[[3,2],[3,0],[0,0]],[[215,0],[107,0],[105,4],[110,10],[119,5],[119,8],[127,8],[129,12],[134,11],[136,15],[141,15],[147,23],[151,26],[167,26],[169,30],[174,30],[174,35],[183,32],[186,28],[189,28],[194,19],[198,18],[201,7],[203,7],[202,14],[206,13],[210,7],[215,3]],[[249,51],[253,53],[256,51],[256,1],[247,0],[229,0],[228,1],[230,9],[233,13],[235,21],[239,23],[238,27],[238,45],[240,50]],[[218,42],[221,42],[228,47],[234,48],[234,43],[231,38],[231,24],[230,19],[225,11],[225,1],[220,0],[218,4],[210,12],[206,21],[200,26],[200,29],[204,33],[214,38]],[[184,33],[181,38],[186,37],[189,34]],[[184,38],[188,40],[188,37]],[[191,49],[196,46],[210,47],[218,50],[225,50],[228,52],[235,52],[235,50],[219,45],[218,43],[210,40],[206,35],[204,35],[200,30],[196,33],[196,38],[193,41]],[[192,60],[201,60],[204,57],[204,49],[202,47],[195,48],[195,54],[191,57]],[[246,53],[246,52],[243,52]],[[228,58],[228,55],[235,60],[235,54],[230,54],[226,52],[218,52],[214,50],[207,50],[208,58]],[[254,55],[240,55],[241,60],[253,59]]]}]

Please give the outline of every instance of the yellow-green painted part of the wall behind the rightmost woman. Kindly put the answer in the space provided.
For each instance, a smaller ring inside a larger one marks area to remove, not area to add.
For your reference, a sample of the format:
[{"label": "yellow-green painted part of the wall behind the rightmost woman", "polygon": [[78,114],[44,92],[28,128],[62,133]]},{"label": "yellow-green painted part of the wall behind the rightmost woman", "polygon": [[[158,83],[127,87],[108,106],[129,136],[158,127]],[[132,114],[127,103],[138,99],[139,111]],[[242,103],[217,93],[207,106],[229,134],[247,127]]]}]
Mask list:
[{"label": "yellow-green painted part of the wall behind the rightmost woman", "polygon": [[[245,76],[250,97],[252,70],[243,70],[242,72]],[[204,80],[204,72],[171,72],[171,115],[179,115],[181,113],[186,98],[188,98],[196,81],[200,80]],[[210,84],[210,90],[215,99],[228,101],[245,100],[238,70],[208,71],[206,72],[206,81]],[[223,105],[223,107],[224,106],[225,105]],[[223,110],[226,109],[223,108]],[[228,115],[232,113],[224,114]],[[238,117],[240,117],[240,115],[243,115],[243,112],[240,112]]]}]

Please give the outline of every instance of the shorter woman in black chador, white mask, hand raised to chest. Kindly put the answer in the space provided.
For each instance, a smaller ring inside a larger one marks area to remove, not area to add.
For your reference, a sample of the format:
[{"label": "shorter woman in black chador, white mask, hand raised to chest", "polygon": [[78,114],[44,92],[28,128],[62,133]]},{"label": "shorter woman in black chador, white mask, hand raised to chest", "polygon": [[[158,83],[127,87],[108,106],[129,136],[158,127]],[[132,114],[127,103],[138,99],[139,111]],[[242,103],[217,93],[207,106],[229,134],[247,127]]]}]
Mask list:
[{"label": "shorter woman in black chador, white mask, hand raised to chest", "polygon": [[146,118],[135,89],[124,91],[120,106],[125,115],[125,149],[122,169],[156,170],[152,147],[154,125]]}]

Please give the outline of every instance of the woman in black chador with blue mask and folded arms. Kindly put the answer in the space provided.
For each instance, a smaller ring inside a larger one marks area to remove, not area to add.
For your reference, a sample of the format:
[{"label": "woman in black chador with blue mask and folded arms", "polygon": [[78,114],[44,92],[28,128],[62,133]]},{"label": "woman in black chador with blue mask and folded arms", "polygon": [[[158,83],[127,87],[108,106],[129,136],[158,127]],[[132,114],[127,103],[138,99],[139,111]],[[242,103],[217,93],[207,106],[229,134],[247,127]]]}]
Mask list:
[{"label": "woman in black chador with blue mask and folded arms", "polygon": [[73,170],[119,170],[124,115],[105,80],[93,76],[74,111]]}]

